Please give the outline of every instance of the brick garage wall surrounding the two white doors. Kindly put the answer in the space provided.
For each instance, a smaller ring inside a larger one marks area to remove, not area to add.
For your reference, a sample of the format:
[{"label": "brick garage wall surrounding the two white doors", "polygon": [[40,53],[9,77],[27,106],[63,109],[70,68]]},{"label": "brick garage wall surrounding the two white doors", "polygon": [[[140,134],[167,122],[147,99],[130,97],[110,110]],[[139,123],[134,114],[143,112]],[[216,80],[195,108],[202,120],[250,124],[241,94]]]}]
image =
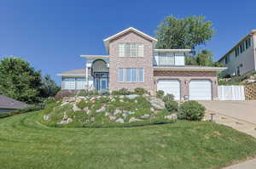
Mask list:
[{"label": "brick garage wall surrounding the two white doors", "polygon": [[181,86],[181,99],[183,99],[184,95],[189,95],[189,82],[191,80],[209,80],[212,82],[212,99],[218,99],[217,72],[154,70],[154,93],[156,92],[157,81],[160,79],[178,80]]}]

